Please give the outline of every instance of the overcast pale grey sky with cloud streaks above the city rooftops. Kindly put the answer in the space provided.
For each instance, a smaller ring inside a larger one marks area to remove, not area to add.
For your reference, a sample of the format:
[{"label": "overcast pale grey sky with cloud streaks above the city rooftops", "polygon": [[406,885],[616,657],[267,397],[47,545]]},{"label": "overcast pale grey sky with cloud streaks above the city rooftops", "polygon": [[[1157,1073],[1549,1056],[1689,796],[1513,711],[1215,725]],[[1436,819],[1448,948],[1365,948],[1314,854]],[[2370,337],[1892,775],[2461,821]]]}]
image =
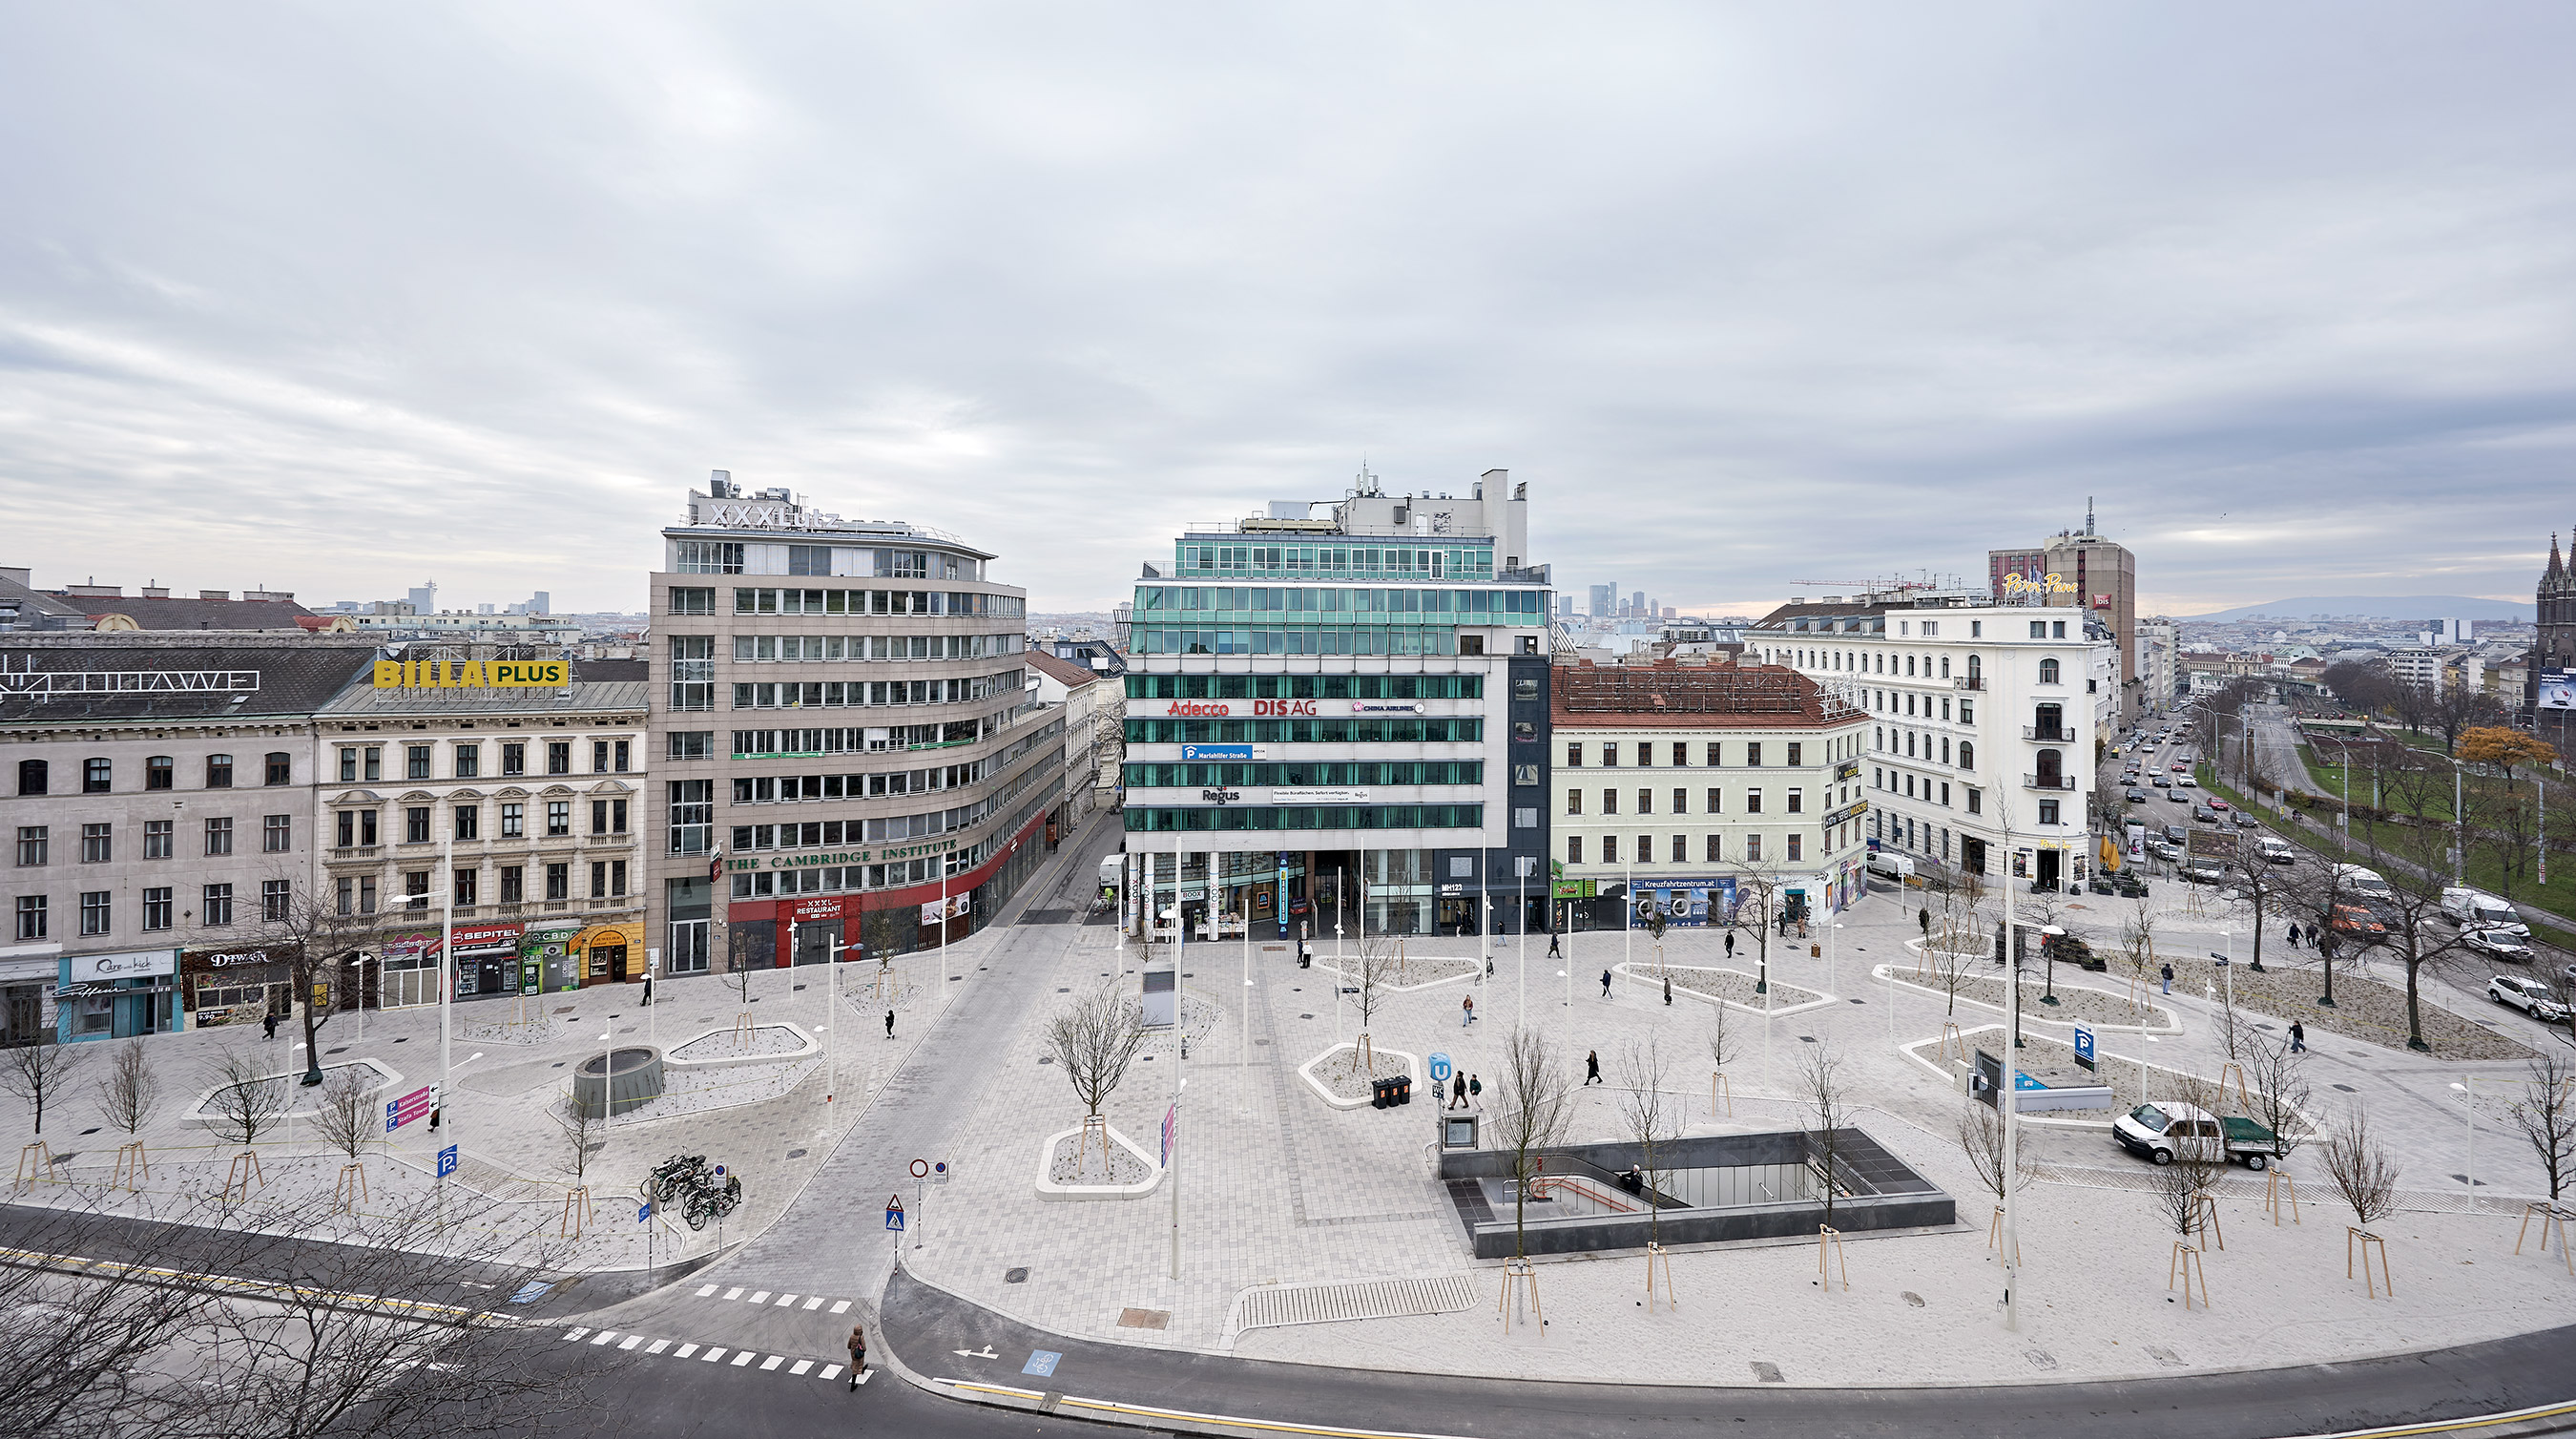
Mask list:
[{"label": "overcast pale grey sky with cloud streaks above the city rooftops", "polygon": [[2530,600],[2568,5],[0,10],[0,564],[641,608],[708,469],[1108,608],[1510,469],[1759,613],[2079,525],[2146,610]]}]

